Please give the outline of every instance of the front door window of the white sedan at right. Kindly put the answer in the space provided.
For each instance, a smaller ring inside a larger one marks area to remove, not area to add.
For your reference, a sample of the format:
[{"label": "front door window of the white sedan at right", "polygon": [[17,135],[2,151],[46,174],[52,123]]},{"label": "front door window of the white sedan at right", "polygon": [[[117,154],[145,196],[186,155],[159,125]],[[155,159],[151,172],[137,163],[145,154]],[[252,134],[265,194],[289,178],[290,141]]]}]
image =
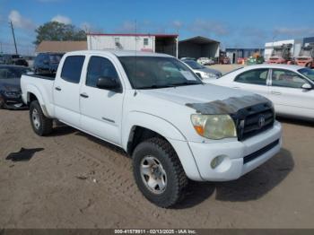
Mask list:
[{"label": "front door window of the white sedan at right", "polygon": [[289,70],[273,69],[272,85],[289,88],[301,88],[307,83],[299,74]]}]

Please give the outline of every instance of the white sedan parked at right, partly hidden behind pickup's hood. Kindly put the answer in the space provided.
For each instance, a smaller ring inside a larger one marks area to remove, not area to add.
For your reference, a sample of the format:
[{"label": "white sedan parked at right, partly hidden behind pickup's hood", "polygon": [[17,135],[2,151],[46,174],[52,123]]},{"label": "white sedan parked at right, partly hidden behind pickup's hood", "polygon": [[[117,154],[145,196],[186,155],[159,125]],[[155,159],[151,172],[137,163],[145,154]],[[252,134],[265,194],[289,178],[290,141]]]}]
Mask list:
[{"label": "white sedan parked at right, partly hidden behind pickup's hood", "polygon": [[277,115],[314,120],[314,71],[310,68],[249,65],[208,82],[263,95],[274,102]]}]

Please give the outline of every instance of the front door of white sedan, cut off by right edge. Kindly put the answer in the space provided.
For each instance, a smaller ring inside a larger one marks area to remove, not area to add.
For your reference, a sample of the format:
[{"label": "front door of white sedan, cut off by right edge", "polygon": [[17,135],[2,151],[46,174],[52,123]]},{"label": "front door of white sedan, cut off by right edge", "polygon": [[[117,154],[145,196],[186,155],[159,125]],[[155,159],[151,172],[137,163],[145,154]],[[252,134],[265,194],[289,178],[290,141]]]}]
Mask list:
[{"label": "front door of white sedan, cut off by right edge", "polygon": [[271,71],[270,99],[275,104],[276,112],[301,117],[314,117],[314,91],[302,89],[309,83],[300,74],[285,69]]}]

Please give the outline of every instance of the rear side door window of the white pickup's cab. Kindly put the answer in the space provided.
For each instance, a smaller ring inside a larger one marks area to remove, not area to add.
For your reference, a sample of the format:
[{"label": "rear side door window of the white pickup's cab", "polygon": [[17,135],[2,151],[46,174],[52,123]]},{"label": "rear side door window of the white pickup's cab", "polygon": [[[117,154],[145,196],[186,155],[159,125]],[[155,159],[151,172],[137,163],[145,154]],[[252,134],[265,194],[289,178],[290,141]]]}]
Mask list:
[{"label": "rear side door window of the white pickup's cab", "polygon": [[61,78],[69,83],[80,83],[84,56],[69,56],[65,58]]}]

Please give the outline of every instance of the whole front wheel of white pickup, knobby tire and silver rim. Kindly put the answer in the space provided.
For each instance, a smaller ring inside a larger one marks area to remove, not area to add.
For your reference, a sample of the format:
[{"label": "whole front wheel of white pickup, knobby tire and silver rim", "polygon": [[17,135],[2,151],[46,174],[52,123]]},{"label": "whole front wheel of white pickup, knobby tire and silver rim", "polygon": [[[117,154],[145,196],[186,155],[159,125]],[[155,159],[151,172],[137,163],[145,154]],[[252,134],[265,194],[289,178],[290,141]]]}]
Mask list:
[{"label": "whole front wheel of white pickup, knobby tire and silver rim", "polygon": [[188,178],[172,146],[161,138],[138,144],[133,153],[137,187],[153,204],[176,205],[184,198]]}]

